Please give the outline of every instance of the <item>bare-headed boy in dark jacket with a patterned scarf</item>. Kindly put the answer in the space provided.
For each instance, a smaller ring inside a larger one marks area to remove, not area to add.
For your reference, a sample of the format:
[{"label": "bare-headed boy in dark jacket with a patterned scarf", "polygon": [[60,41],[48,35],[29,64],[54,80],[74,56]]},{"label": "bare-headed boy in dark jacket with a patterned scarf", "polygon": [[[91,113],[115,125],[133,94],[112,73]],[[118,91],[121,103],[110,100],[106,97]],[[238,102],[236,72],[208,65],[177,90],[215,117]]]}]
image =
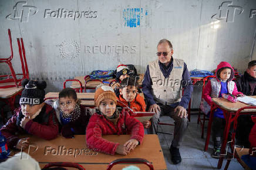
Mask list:
[{"label": "bare-headed boy in dark jacket with a patterned scarf", "polygon": [[46,102],[50,103],[56,111],[63,137],[73,138],[74,135],[86,133],[90,112],[79,105],[78,96],[74,89],[63,89],[59,93],[59,100]]}]

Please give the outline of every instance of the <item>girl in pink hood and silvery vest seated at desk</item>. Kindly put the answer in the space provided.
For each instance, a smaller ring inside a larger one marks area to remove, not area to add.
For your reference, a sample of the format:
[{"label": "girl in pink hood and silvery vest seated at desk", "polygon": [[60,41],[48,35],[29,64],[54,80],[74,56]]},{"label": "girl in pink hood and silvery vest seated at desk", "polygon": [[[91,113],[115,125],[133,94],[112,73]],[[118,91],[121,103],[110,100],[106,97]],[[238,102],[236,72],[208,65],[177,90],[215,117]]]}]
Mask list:
[{"label": "girl in pink hood and silvery vest seated at desk", "polygon": [[[234,70],[228,62],[221,62],[217,66],[216,79],[211,79],[206,84],[203,94],[204,110],[210,111],[211,98],[222,97],[222,94],[233,94],[234,96],[244,96],[237,91],[234,81]],[[213,145],[214,150],[211,156],[213,158],[220,157],[221,140],[225,128],[225,119],[223,111],[217,108],[214,111],[213,118]]]}]

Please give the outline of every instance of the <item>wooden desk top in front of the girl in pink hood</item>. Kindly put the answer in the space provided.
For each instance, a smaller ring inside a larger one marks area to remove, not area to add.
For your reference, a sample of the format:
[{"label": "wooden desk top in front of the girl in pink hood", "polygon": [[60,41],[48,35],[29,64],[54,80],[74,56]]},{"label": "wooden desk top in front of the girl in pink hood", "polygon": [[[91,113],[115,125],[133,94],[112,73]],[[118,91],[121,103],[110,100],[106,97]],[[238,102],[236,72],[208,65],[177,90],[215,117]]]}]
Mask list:
[{"label": "wooden desk top in front of the girl in pink hood", "polygon": [[[256,98],[256,96],[250,96],[253,98]],[[228,101],[225,98],[211,98],[211,101],[213,101],[215,104],[217,104],[218,106],[220,106],[221,108],[230,111],[230,112],[237,112],[238,109],[242,108],[242,107],[247,107],[250,106],[248,104],[245,103],[241,103],[240,101],[237,101],[236,103],[232,103],[231,101]],[[246,112],[255,112],[255,109],[246,109],[243,110],[242,113],[246,113]]]}]

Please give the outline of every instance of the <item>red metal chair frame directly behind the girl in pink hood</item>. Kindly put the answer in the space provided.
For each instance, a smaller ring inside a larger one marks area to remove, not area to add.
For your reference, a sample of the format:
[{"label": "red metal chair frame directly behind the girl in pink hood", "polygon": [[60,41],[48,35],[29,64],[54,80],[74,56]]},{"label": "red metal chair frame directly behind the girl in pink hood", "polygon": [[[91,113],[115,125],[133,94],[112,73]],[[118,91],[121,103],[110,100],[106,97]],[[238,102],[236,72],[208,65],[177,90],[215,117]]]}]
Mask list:
[{"label": "red metal chair frame directly behind the girl in pink hood", "polygon": [[[210,78],[215,78],[216,76],[207,76],[203,79],[203,89],[201,94],[201,101],[203,101],[203,95],[204,95],[204,87],[206,87],[206,82],[210,80]],[[206,121],[209,120],[209,118],[206,118],[206,114],[203,114],[203,118],[201,118],[201,109],[199,108],[198,116],[197,116],[197,124],[200,123],[201,125],[201,138],[204,138],[204,125]]]}]

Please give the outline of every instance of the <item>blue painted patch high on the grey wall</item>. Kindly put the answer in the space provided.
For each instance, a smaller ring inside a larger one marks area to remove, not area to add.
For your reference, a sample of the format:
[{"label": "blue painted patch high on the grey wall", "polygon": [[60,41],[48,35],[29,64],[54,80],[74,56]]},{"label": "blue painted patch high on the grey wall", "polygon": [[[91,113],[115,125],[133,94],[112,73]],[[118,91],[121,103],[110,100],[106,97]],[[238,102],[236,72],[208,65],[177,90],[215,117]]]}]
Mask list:
[{"label": "blue painted patch high on the grey wall", "polygon": [[[145,12],[143,12],[145,11]],[[142,24],[142,19],[148,16],[147,9],[143,8],[127,8],[123,9],[123,25],[124,27],[136,28]]]}]

